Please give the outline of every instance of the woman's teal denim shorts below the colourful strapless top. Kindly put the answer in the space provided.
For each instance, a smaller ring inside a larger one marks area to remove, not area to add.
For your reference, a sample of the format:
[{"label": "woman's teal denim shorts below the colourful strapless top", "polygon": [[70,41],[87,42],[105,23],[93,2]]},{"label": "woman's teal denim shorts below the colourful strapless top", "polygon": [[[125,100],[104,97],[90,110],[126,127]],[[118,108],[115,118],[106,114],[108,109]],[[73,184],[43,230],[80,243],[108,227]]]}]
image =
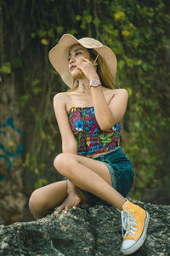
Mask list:
[{"label": "woman's teal denim shorts below the colourful strapless top", "polygon": [[[134,173],[132,163],[127,158],[123,149],[118,147],[109,153],[101,154],[93,159],[105,163],[111,173],[113,188],[116,189],[122,196],[127,197],[133,185]],[[81,190],[88,198],[88,203],[90,205],[95,205],[97,202],[103,201],[98,196],[93,195],[86,190]],[[105,203],[108,204],[107,202]]]}]

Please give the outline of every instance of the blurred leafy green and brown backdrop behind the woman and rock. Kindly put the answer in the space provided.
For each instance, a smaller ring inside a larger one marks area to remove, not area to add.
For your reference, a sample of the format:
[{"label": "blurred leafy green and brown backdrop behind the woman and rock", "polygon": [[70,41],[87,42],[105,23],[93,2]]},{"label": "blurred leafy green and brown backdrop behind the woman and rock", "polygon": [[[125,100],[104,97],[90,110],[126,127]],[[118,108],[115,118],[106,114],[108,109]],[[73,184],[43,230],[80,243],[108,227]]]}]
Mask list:
[{"label": "blurred leafy green and brown backdrop behind the woman and rock", "polygon": [[68,88],[48,61],[64,33],[113,49],[116,88],[129,94],[121,145],[133,163],[130,197],[170,202],[168,0],[0,0],[0,224],[33,220],[34,189],[61,180],[53,97]]}]

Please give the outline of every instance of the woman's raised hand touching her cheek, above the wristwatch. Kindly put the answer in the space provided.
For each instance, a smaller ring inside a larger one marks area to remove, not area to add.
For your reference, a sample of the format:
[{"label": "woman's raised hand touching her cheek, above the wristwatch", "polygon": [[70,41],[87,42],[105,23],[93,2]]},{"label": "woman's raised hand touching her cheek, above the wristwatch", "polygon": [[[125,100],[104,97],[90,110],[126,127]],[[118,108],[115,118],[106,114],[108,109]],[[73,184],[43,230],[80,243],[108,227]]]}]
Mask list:
[{"label": "woman's raised hand touching her cheek, above the wristwatch", "polygon": [[85,76],[89,80],[91,80],[91,79],[98,79],[99,80],[99,75],[96,72],[95,66],[88,59],[82,57],[82,63],[78,65],[78,68],[80,68],[82,70],[82,73],[84,73]]}]

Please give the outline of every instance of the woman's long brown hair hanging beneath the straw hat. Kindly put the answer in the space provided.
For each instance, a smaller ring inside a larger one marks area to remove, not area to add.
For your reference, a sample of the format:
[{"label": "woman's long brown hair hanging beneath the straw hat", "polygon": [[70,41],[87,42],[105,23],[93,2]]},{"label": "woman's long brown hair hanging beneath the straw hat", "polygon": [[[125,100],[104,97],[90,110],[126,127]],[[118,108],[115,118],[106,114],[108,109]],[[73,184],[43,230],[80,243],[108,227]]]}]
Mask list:
[{"label": "woman's long brown hair hanging beneath the straw hat", "polygon": [[[88,52],[90,54],[91,59],[95,60],[98,53],[94,49],[88,49]],[[113,76],[111,75],[111,72],[110,72],[106,62],[102,58],[101,55],[99,55],[96,63],[98,63],[97,73],[99,75],[99,79],[100,79],[102,86],[109,88],[109,89],[114,89],[115,83],[113,81],[115,80],[115,78],[113,78]],[[74,79],[72,88],[68,91],[76,90],[77,87],[78,87],[78,81],[77,81],[77,79]]]}]

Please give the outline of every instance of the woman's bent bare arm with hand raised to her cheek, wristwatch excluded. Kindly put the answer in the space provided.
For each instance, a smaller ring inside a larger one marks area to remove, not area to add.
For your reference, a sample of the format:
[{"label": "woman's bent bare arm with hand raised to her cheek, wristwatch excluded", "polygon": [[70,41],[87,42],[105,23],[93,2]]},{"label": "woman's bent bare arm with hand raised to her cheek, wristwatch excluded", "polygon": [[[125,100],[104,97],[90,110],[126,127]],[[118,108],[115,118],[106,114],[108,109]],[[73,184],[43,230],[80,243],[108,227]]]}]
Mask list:
[{"label": "woman's bent bare arm with hand raised to her cheek, wristwatch excluded", "polygon": [[[88,59],[83,58],[79,68],[89,80],[99,80],[99,75],[96,72],[94,65]],[[115,94],[109,104],[105,101],[105,95],[101,86],[91,86],[91,91],[93,96],[95,117],[98,125],[101,130],[108,130],[122,119],[126,111],[128,100],[127,90],[115,90]]]}]

